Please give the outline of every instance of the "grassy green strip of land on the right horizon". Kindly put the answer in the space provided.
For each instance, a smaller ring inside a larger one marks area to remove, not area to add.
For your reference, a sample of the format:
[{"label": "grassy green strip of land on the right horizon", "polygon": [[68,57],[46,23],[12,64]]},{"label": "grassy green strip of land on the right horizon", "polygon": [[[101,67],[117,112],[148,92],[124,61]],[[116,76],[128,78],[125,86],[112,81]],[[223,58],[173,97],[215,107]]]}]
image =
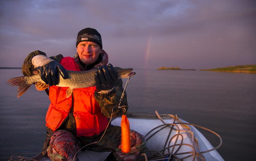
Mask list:
[{"label": "grassy green strip of land on the right horizon", "polygon": [[203,70],[204,71],[255,73],[256,74],[256,65],[237,65],[234,67],[223,67],[223,68],[203,69]]}]

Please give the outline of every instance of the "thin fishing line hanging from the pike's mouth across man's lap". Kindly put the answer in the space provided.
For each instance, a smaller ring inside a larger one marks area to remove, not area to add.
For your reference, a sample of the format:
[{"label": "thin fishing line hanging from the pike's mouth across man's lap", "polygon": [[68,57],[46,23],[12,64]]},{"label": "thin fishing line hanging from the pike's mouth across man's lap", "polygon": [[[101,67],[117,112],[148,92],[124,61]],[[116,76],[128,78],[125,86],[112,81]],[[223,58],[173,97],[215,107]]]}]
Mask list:
[{"label": "thin fishing line hanging from the pike's mouth across man's lap", "polygon": [[[126,81],[126,84],[125,84],[125,86],[124,86],[124,90],[125,90],[125,88],[126,88],[126,86],[127,86],[128,82],[130,81],[130,77],[131,77],[131,75],[132,75],[132,74],[130,74],[130,75],[129,75],[129,77],[128,77],[127,81]],[[122,95],[121,95],[121,98],[120,98],[120,100],[119,100],[119,104],[118,104],[118,106],[117,106],[117,107],[118,107],[118,108],[122,108],[122,109],[123,109],[123,111],[125,112],[125,111],[126,111],[126,109],[125,109],[124,107],[128,107],[128,106],[120,106],[120,104],[121,104],[121,102],[122,102],[123,98],[124,98],[124,91],[123,91],[123,93],[122,93]],[[111,112],[110,120],[108,121],[108,125],[107,125],[107,127],[106,127],[106,129],[105,129],[105,131],[104,131],[103,135],[101,136],[100,140],[101,140],[101,139],[103,138],[103,136],[105,135],[105,133],[106,133],[106,131],[107,131],[107,128],[108,128],[108,126],[109,126],[109,124],[110,124],[110,122],[111,122],[111,120],[112,120],[112,115],[113,115],[113,109],[114,109],[114,107],[116,107],[116,106],[113,106],[113,108],[112,108],[112,112]],[[87,145],[84,145],[82,148],[80,148],[80,149],[76,152],[76,154],[74,155],[74,158],[73,158],[73,160],[72,160],[72,161],[74,161],[74,159],[75,159],[75,157],[76,157],[77,153],[78,153],[81,149],[83,149],[84,147],[86,147],[86,146],[88,146],[88,145],[95,144],[95,143],[99,143],[99,142],[100,142],[100,140],[99,140],[99,141],[97,141],[97,142],[93,142],[93,143],[89,143],[89,144],[87,144]]]}]

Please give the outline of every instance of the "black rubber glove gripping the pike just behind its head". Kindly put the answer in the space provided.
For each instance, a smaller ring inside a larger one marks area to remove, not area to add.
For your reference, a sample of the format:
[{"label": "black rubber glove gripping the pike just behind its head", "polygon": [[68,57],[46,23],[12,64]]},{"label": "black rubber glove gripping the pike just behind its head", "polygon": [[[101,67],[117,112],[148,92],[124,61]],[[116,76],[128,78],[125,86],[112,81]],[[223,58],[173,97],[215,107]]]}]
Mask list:
[{"label": "black rubber glove gripping the pike just behind its head", "polygon": [[94,77],[97,91],[110,90],[115,87],[118,76],[112,64],[103,65],[98,67],[97,70]]}]

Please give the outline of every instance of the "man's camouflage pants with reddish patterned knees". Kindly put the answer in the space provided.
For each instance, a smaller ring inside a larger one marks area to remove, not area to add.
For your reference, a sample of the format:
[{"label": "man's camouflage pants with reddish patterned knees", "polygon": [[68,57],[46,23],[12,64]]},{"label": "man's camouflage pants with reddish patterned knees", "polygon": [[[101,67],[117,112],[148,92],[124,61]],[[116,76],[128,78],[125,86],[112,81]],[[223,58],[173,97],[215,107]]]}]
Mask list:
[{"label": "man's camouflage pants with reddish patterned knees", "polygon": [[[110,126],[99,143],[86,146],[82,150],[93,150],[99,152],[112,151],[113,155],[116,157],[116,160],[137,160],[141,152],[146,147],[146,140],[144,139],[144,136],[131,130],[132,150],[129,153],[123,153],[121,151],[121,132],[118,132],[119,130],[117,129],[120,129],[120,127]],[[118,136],[116,134],[118,134]],[[75,137],[73,133],[67,130],[57,130],[52,134],[49,147],[47,149],[47,155],[56,161],[71,161],[80,148],[88,143],[98,141],[102,135],[103,133],[92,137]],[[74,160],[78,160],[78,157],[76,157]]]}]

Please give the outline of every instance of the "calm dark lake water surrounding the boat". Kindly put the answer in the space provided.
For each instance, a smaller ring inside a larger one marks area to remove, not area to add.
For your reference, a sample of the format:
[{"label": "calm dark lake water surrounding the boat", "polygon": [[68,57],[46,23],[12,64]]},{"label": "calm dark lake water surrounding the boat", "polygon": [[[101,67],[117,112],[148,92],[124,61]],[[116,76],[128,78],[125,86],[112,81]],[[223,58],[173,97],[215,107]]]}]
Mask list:
[{"label": "calm dark lake water surrounding the boat", "polygon": [[[225,160],[255,159],[256,74],[210,71],[134,70],[127,86],[129,112],[177,114],[210,128],[223,139]],[[31,87],[19,99],[6,81],[20,70],[0,70],[0,160],[14,153],[32,157],[41,151],[49,100]],[[126,81],[125,79],[123,81]],[[214,145],[217,137],[203,132]]]}]

